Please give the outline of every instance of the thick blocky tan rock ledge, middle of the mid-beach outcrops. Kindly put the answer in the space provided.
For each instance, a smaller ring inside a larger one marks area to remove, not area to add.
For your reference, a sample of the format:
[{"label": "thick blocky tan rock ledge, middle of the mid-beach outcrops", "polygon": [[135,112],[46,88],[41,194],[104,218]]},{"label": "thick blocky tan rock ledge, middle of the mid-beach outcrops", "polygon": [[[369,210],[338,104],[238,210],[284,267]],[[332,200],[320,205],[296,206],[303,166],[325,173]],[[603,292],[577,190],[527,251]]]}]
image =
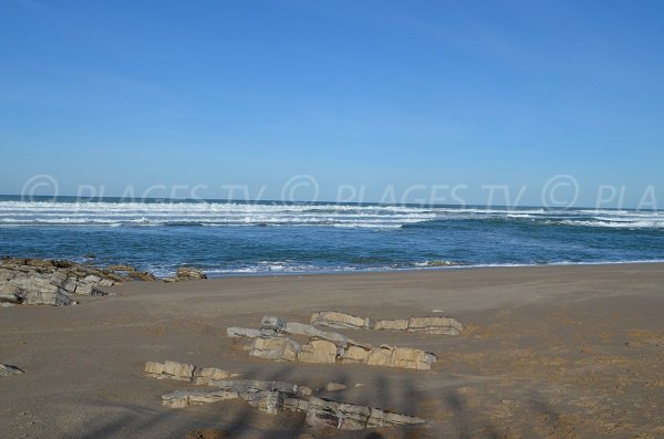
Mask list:
[{"label": "thick blocky tan rock ledge, middle of the mid-beach outcrops", "polygon": [[[436,355],[412,347],[382,345],[373,347],[347,338],[343,334],[321,331],[299,322],[264,316],[260,330],[230,326],[226,330],[230,337],[249,337],[249,355],[260,358],[301,362],[366,364],[371,366],[401,367],[428,370]],[[300,344],[289,336],[303,335],[307,343]]]}]

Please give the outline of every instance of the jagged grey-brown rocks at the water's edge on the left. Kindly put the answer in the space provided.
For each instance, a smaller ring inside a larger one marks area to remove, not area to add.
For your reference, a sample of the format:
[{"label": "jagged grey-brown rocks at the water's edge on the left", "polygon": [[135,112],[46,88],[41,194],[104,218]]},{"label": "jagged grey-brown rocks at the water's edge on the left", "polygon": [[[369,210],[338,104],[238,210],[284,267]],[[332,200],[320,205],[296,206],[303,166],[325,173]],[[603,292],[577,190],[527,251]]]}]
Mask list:
[{"label": "jagged grey-brown rocks at the water's edge on the left", "polygon": [[[72,305],[75,295],[104,295],[103,286],[126,280],[155,280],[129,265],[123,270],[96,268],[71,261],[2,258],[0,302],[28,305]],[[126,269],[126,270],[125,270]]]}]

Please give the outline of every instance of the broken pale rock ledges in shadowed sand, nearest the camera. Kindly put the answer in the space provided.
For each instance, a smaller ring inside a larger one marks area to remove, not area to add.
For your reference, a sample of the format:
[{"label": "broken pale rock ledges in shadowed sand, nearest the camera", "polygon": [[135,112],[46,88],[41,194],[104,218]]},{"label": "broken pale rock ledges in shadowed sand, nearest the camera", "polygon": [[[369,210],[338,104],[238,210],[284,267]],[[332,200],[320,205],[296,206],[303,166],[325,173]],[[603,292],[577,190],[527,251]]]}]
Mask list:
[{"label": "broken pale rock ledges in shadowed sand, nearest the camera", "polygon": [[[211,369],[211,368],[210,368]],[[145,370],[153,376],[166,374],[172,377],[191,378],[196,370],[194,365],[166,362],[149,362]],[[220,369],[215,369],[220,370]],[[199,383],[200,384],[200,383]],[[218,403],[241,398],[258,410],[279,415],[283,410],[303,412],[307,425],[312,428],[332,427],[342,430],[363,430],[374,427],[423,424],[424,419],[395,414],[374,407],[339,403],[312,396],[311,388],[282,381],[261,381],[253,379],[212,380],[204,383],[214,389],[176,390],[162,396],[162,404],[172,408],[184,408],[194,405]],[[330,391],[345,388],[339,383],[330,383]]]}]

